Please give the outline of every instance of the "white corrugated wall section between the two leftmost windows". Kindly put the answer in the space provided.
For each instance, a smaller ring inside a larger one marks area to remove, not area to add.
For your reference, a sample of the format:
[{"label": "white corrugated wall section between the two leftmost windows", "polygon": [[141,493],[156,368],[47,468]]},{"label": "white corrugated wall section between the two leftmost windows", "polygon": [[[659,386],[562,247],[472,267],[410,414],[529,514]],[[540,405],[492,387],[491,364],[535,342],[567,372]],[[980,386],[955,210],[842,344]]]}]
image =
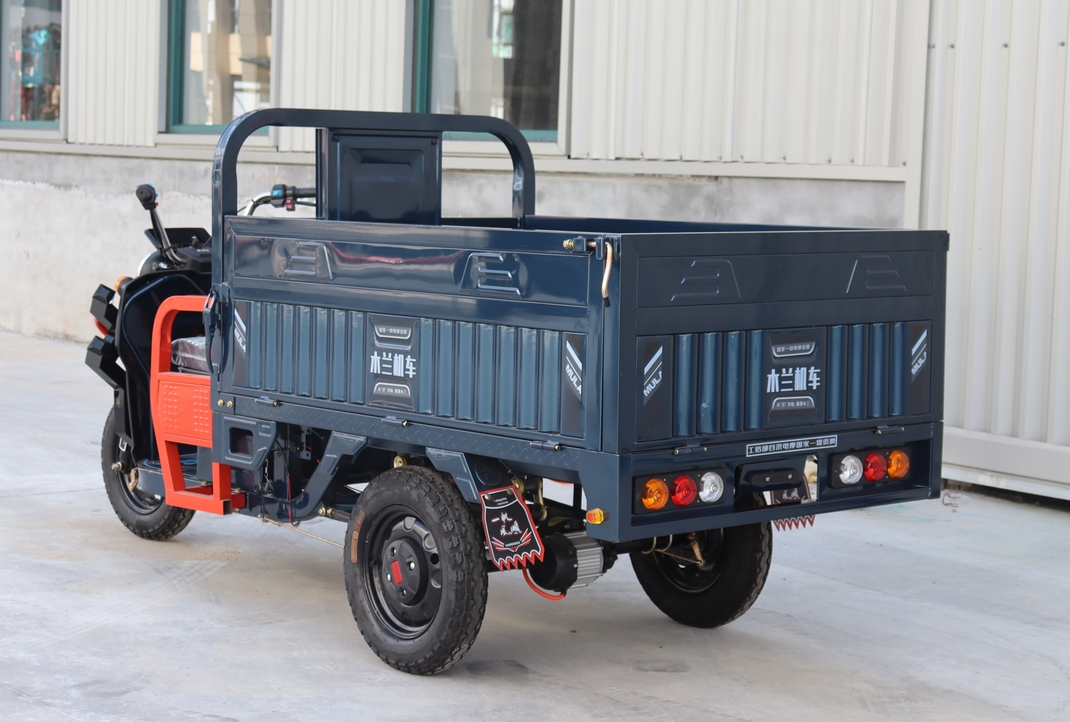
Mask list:
[{"label": "white corrugated wall section between the two leftmost windows", "polygon": [[154,143],[160,6],[140,0],[68,0],[63,91],[70,142]]}]

